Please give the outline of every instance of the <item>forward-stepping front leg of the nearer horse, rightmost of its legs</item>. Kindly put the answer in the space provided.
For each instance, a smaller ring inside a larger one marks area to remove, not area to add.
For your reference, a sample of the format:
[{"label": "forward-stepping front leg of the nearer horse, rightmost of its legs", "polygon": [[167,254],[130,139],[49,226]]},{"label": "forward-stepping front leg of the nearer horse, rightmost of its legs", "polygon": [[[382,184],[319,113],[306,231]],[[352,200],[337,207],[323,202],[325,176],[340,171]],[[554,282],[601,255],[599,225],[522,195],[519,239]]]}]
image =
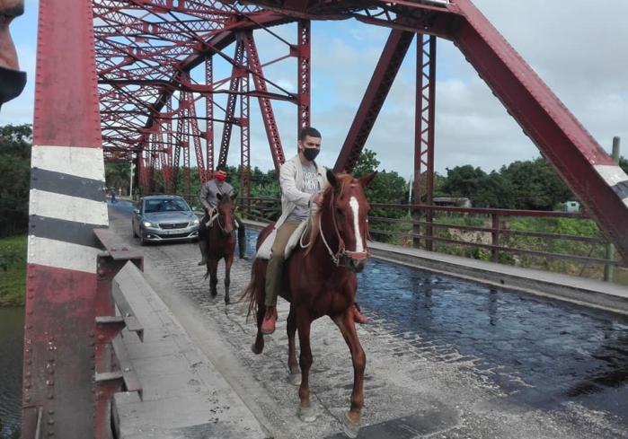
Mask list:
[{"label": "forward-stepping front leg of the nearer horse, rightmost of its legs", "polygon": [[356,324],[353,320],[353,310],[349,308],[342,315],[333,319],[341,329],[342,337],[347,342],[353,361],[353,391],[351,392],[351,408],[345,412],[343,419],[344,433],[349,437],[356,437],[359,432],[359,418],[364,405],[364,368],[367,365],[367,356],[359,343]]}]

